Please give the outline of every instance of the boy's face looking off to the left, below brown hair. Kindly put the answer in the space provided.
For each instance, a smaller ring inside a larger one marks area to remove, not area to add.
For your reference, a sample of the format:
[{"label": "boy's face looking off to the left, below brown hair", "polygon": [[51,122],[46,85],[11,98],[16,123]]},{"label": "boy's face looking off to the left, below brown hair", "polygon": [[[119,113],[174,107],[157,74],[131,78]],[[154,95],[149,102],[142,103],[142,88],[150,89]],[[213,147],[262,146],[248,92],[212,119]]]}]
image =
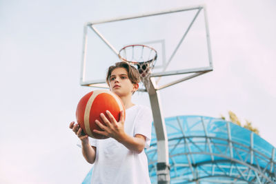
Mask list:
[{"label": "boy's face looking off to the left, below brown hair", "polygon": [[138,89],[138,84],[134,84],[128,78],[125,68],[115,68],[110,75],[110,91],[118,96],[132,95]]}]

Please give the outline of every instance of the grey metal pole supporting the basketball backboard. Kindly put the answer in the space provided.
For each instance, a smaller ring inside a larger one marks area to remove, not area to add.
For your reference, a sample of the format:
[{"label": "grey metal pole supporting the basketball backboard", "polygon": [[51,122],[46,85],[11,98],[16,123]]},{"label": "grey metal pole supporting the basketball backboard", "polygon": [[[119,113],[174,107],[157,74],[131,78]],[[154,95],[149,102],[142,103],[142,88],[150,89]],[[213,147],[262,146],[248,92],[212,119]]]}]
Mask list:
[{"label": "grey metal pole supporting the basketball backboard", "polygon": [[158,184],[169,184],[170,165],[168,163],[168,136],[166,125],[161,111],[159,91],[155,89],[155,79],[151,78],[149,82],[150,85],[147,90],[150,96],[150,105],[157,136],[157,181]]}]

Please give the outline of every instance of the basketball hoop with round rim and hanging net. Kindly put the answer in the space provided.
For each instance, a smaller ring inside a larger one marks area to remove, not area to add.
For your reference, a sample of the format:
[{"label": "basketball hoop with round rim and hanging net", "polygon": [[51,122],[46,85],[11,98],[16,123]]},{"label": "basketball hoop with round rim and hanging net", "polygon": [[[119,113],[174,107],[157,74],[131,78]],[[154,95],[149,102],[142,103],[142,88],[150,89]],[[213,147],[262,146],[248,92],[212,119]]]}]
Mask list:
[{"label": "basketball hoop with round rim and hanging net", "polygon": [[118,56],[122,61],[137,66],[141,80],[148,90],[150,73],[157,59],[156,50],[147,45],[127,45],[119,51]]}]

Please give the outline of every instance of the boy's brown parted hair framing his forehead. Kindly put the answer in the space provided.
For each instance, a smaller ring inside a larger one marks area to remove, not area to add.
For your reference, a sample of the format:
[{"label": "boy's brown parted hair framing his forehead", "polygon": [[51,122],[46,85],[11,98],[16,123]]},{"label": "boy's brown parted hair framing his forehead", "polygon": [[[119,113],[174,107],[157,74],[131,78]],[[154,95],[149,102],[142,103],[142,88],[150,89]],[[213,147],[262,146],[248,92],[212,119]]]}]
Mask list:
[{"label": "boy's brown parted hair framing his forehead", "polygon": [[115,65],[111,65],[108,68],[108,72],[106,74],[106,83],[108,83],[108,86],[110,85],[110,75],[112,71],[115,70],[116,68],[125,68],[126,72],[128,72],[128,79],[130,79],[132,83],[139,83],[141,81],[141,77],[138,70],[134,66],[127,63],[126,61],[121,61],[121,62],[115,63]]}]

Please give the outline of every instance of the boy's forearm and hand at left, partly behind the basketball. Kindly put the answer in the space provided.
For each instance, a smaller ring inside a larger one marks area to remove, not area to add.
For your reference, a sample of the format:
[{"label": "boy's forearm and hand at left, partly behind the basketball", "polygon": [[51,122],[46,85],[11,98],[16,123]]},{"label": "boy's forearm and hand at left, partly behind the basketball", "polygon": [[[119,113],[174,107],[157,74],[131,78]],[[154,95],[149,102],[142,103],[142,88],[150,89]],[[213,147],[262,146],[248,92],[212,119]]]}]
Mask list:
[{"label": "boy's forearm and hand at left, partly behind the basketball", "polygon": [[75,122],[71,122],[69,125],[70,129],[79,137],[81,140],[81,152],[83,154],[84,159],[88,161],[88,163],[94,163],[96,158],[97,148],[91,146],[89,144],[89,139],[87,134],[83,134],[81,127],[78,124],[75,125]]}]

